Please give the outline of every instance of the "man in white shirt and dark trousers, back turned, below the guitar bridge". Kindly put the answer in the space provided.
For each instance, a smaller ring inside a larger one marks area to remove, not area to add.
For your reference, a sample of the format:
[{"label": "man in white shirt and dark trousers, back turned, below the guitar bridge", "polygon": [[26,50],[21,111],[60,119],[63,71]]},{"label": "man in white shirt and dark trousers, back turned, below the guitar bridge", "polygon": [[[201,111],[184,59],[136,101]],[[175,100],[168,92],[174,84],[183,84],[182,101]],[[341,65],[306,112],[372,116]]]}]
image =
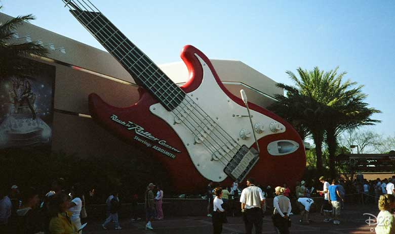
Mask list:
[{"label": "man in white shirt and dark trousers, back turned, below the guitar bridge", "polygon": [[252,234],[252,227],[255,225],[255,233],[262,233],[262,207],[265,204],[265,197],[262,190],[254,185],[255,179],[247,179],[247,188],[242,191],[240,202],[246,233]]}]

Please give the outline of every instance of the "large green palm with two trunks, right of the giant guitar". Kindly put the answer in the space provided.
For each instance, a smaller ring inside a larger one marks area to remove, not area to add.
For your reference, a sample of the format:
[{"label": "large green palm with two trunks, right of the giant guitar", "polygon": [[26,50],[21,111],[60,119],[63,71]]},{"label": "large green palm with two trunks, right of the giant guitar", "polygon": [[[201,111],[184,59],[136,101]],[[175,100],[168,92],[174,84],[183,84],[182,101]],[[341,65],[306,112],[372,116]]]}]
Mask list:
[{"label": "large green palm with two trunks, right of the giant guitar", "polygon": [[345,129],[379,122],[370,116],[380,112],[368,108],[368,104],[363,102],[366,98],[361,90],[363,86],[352,88],[357,83],[343,82],[346,72],[338,74],[337,70],[324,72],[314,67],[307,71],[299,67],[300,78],[287,71],[296,86],[278,84],[286,90],[287,97],[277,96],[279,102],[270,107],[291,123],[297,122],[308,129],[315,144],[318,171],[323,168],[322,144],[325,139],[332,176],[335,175],[337,136]]}]

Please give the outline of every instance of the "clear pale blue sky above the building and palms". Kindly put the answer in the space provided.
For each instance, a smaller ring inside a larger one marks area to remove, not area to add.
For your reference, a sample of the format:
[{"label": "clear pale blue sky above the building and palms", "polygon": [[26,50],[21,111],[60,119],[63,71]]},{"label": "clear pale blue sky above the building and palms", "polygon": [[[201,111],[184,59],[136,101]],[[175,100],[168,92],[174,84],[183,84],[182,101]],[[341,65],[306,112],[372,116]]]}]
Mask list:
[{"label": "clear pale blue sky above the building and palms", "polygon": [[[287,70],[339,66],[382,111],[371,129],[395,135],[394,1],[91,2],[156,64],[181,61],[191,44],[210,59],[239,60],[286,84],[293,84]],[[5,14],[33,14],[33,24],[104,50],[61,0],[1,4]]]}]

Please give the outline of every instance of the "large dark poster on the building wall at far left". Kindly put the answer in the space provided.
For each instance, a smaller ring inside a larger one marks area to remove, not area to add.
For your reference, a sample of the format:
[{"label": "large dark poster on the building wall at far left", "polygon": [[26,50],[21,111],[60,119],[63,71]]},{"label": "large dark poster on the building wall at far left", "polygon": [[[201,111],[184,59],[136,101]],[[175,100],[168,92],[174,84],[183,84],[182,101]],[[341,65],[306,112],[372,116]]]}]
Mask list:
[{"label": "large dark poster on the building wall at far left", "polygon": [[34,76],[0,74],[0,149],[51,146],[55,67],[35,63]]}]

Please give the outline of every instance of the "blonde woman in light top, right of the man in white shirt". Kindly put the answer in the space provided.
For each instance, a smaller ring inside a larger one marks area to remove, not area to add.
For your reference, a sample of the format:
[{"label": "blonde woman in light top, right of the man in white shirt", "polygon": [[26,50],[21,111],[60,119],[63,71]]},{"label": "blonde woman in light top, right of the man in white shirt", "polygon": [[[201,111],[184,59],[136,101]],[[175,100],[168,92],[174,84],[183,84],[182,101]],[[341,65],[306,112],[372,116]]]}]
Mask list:
[{"label": "blonde woman in light top, right of the man in white shirt", "polygon": [[284,196],[285,189],[278,186],[275,188],[275,195],[273,199],[273,224],[277,233],[288,234],[289,230],[289,214],[291,213],[292,207],[289,198]]}]

